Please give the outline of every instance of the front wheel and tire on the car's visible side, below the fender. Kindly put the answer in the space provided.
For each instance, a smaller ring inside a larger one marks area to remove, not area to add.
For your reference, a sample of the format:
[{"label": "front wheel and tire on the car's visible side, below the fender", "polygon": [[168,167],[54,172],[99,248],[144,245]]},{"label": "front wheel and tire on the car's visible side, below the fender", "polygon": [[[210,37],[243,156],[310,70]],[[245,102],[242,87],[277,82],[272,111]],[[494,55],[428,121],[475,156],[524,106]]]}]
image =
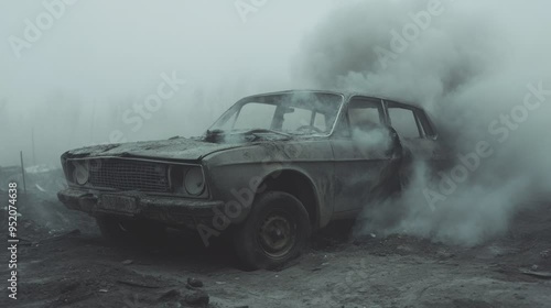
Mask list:
[{"label": "front wheel and tire on the car's visible side, below the fender", "polygon": [[268,191],[256,197],[247,220],[237,227],[234,246],[246,270],[273,270],[302,253],[311,230],[298,198]]}]

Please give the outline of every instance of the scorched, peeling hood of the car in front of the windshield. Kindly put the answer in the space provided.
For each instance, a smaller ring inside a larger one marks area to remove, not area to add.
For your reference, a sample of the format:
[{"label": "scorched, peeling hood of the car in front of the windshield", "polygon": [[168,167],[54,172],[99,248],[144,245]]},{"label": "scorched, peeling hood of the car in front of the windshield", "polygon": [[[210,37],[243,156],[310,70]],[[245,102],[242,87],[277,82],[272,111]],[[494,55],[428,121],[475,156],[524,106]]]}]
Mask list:
[{"label": "scorched, peeling hood of the car in front of the windshield", "polygon": [[68,151],[64,156],[67,158],[120,156],[198,161],[208,154],[244,145],[242,143],[209,143],[177,138],[164,141],[88,146]]}]

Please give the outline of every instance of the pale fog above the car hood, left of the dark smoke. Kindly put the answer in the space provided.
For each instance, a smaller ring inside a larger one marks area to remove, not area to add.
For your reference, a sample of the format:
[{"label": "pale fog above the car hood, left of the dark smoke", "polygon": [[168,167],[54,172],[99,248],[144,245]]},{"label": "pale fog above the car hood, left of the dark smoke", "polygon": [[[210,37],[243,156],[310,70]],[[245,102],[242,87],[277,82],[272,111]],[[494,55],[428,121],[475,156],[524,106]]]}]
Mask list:
[{"label": "pale fog above the car hood, left of the dark smoke", "polygon": [[[33,131],[36,164],[88,144],[198,135],[240,97],[293,87],[290,58],[331,4],[2,1],[0,165],[19,151],[34,164]],[[148,109],[162,74],[177,90]]]}]

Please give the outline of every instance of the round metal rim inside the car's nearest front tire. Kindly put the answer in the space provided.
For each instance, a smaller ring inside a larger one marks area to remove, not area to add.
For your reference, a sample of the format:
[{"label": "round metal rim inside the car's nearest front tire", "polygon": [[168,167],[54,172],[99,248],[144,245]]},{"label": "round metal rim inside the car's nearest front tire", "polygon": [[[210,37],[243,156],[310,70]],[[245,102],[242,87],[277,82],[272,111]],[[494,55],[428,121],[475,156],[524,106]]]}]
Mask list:
[{"label": "round metal rim inside the car's nearest front tire", "polygon": [[296,242],[295,220],[287,212],[270,212],[260,223],[258,241],[267,255],[284,256]]}]

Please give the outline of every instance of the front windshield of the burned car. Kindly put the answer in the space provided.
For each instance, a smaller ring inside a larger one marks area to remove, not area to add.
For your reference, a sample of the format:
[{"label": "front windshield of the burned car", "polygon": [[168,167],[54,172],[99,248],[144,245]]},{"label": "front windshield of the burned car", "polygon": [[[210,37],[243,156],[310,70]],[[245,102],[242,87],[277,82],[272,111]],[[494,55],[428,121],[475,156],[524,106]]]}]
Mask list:
[{"label": "front windshield of the burned car", "polygon": [[290,92],[249,97],[226,111],[209,131],[329,134],[343,97],[334,94]]}]

